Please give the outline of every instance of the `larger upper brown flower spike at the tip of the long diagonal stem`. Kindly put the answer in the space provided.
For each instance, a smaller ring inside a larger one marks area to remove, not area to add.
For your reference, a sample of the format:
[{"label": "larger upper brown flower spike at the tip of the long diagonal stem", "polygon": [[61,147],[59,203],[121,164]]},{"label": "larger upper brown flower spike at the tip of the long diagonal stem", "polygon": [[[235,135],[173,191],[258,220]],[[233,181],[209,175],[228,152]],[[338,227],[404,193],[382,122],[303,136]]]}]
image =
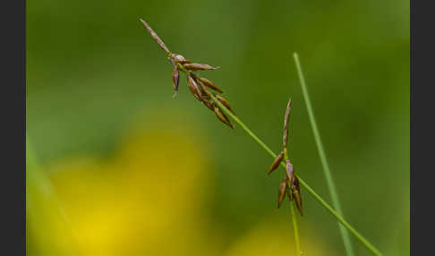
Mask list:
[{"label": "larger upper brown flower spike at the tip of the long diagonal stem", "polygon": [[165,43],[162,39],[158,37],[158,34],[154,32],[149,27],[149,24],[142,19],[140,19],[143,26],[149,31],[149,34],[151,34],[151,37],[156,40],[158,43],[158,46],[160,46],[168,55],[168,59],[174,66],[174,71],[172,73],[172,81],[174,85],[174,98],[178,92],[178,86],[179,86],[179,79],[180,79],[180,71],[186,74],[187,79],[187,85],[189,87],[189,90],[191,90],[193,97],[198,99],[200,102],[203,103],[205,107],[208,107],[210,110],[212,110],[218,119],[224,123],[230,126],[232,129],[234,129],[233,124],[229,121],[228,117],[224,114],[222,109],[218,107],[217,104],[213,101],[213,97],[215,97],[222,105],[224,105],[228,110],[231,111],[231,113],[235,114],[233,108],[230,106],[228,101],[223,98],[222,96],[211,93],[209,90],[207,90],[206,87],[210,88],[211,90],[215,90],[218,93],[222,93],[222,90],[216,86],[215,83],[212,81],[209,81],[206,78],[200,77],[194,72],[196,71],[209,71],[209,70],[217,70],[218,67],[211,66],[209,64],[198,64],[198,63],[192,63],[190,60],[186,59],[183,55],[179,54],[173,54],[169,49],[166,47]]}]

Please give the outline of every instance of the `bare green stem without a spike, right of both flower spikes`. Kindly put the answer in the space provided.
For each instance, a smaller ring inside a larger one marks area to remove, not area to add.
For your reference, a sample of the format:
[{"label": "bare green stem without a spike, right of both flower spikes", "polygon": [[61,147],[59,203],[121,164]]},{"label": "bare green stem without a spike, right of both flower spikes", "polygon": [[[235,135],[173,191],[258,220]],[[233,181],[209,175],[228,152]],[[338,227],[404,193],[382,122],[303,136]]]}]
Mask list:
[{"label": "bare green stem without a spike, right of both flower spikes", "polygon": [[[328,161],[325,154],[325,149],[323,148],[323,143],[320,139],[320,132],[319,128],[316,124],[316,119],[314,118],[314,113],[312,111],[311,107],[311,100],[310,96],[308,95],[307,85],[305,83],[305,79],[303,77],[303,71],[301,67],[301,63],[299,62],[299,57],[296,53],[294,53],[294,62],[296,64],[297,73],[299,76],[299,80],[301,81],[301,87],[303,90],[303,98],[305,100],[305,105],[307,107],[308,116],[310,118],[310,124],[311,124],[311,130],[314,134],[314,140],[316,141],[317,149],[319,151],[320,156],[320,162],[321,166],[323,166],[323,174],[325,175],[327,184],[328,184],[328,190],[329,194],[331,195],[332,199],[332,205],[334,206],[334,209],[337,210],[337,213],[341,216],[343,216],[343,210],[341,209],[340,201],[338,200],[338,193],[336,189],[336,185],[334,183],[334,180],[332,179],[331,172],[329,170]],[[340,229],[341,236],[343,238],[343,243],[345,243],[345,252],[349,256],[354,256],[354,249],[352,248],[352,242],[349,237],[349,233],[347,233],[347,230],[344,226],[339,225],[338,227]]]}]

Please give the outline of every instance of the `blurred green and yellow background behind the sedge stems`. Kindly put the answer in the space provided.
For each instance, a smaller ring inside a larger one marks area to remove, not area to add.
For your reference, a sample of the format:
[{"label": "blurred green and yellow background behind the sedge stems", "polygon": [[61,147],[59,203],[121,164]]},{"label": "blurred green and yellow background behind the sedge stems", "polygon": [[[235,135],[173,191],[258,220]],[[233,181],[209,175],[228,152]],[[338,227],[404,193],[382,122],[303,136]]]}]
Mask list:
[{"label": "blurred green and yellow background behind the sedge stems", "polygon": [[[328,188],[297,80],[298,52],[345,218],[409,254],[409,1],[27,2],[29,255],[294,255],[283,174],[192,97],[141,25],[225,90],[276,152],[293,98],[294,167]],[[304,255],[344,255],[303,192]],[[370,255],[354,237],[357,255]]]}]

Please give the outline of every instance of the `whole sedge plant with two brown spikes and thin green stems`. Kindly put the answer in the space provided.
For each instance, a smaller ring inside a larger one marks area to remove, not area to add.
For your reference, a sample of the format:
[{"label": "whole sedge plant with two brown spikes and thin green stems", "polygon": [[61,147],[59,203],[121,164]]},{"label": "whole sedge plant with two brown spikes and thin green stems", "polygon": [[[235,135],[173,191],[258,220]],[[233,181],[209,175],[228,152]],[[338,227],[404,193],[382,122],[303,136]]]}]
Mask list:
[{"label": "whole sedge plant with two brown spikes and thin green stems", "polygon": [[[333,205],[335,206],[335,209],[332,208],[325,200],[323,200],[320,195],[315,192],[311,186],[306,183],[303,178],[301,178],[299,175],[294,174],[293,165],[291,164],[288,153],[286,150],[286,140],[287,140],[287,131],[288,131],[288,115],[290,113],[290,105],[291,100],[289,100],[286,108],[286,115],[285,115],[285,132],[284,132],[284,149],[279,154],[276,154],[272,149],[269,148],[269,146],[266,145],[263,141],[260,140],[260,138],[255,135],[254,132],[252,132],[251,129],[248,128],[246,124],[242,122],[242,120],[235,115],[235,111],[230,106],[229,102],[223,98],[220,94],[223,92],[218,86],[212,82],[209,81],[206,78],[200,77],[197,73],[197,71],[212,71],[217,70],[218,67],[211,66],[209,64],[199,64],[199,63],[192,63],[190,60],[185,58],[183,55],[174,54],[166,47],[165,43],[161,38],[158,37],[157,33],[154,32],[149,27],[149,24],[146,21],[140,20],[141,23],[144,25],[144,27],[149,31],[150,35],[158,45],[166,52],[167,58],[169,62],[174,66],[174,71],[172,73],[172,80],[173,80],[173,86],[175,90],[174,97],[176,96],[176,93],[178,91],[179,87],[179,78],[180,78],[180,72],[184,73],[186,75],[187,85],[189,89],[192,92],[192,95],[194,98],[199,100],[205,107],[208,107],[211,111],[215,113],[215,115],[218,117],[218,119],[230,126],[232,129],[234,129],[234,125],[231,123],[230,118],[238,124],[244,132],[246,132],[253,141],[256,141],[262,149],[264,149],[272,158],[274,158],[273,164],[271,167],[273,167],[273,170],[277,169],[278,166],[282,166],[285,170],[285,178],[283,179],[283,182],[280,183],[278,188],[278,207],[281,205],[281,202],[284,200],[284,198],[287,197],[291,201],[290,204],[290,211],[292,214],[292,219],[294,222],[294,239],[296,244],[296,250],[297,255],[301,254],[300,249],[300,243],[299,243],[299,235],[298,235],[298,229],[296,224],[296,216],[294,213],[294,205],[296,205],[296,208],[301,213],[301,216],[303,215],[302,210],[302,197],[301,197],[301,190],[300,185],[311,194],[311,196],[320,203],[320,205],[325,208],[333,218],[336,218],[337,221],[341,224],[340,231],[342,232],[342,236],[344,238],[345,242],[345,249],[346,252],[349,255],[353,255],[353,251],[350,245],[349,237],[347,235],[347,231],[349,231],[354,237],[357,239],[358,242],[362,243],[362,245],[367,248],[373,255],[382,255],[382,253],[373,246],[366,238],[364,238],[355,228],[354,226],[351,226],[349,222],[345,220],[342,216],[342,211],[339,206],[339,201],[337,199],[337,192],[335,190],[334,183],[332,182],[332,178],[328,169],[328,163],[326,161],[326,157],[324,154],[323,146],[320,141],[320,135],[317,129],[317,126],[315,124],[314,117],[312,115],[312,109],[311,109],[311,102],[308,98],[308,92],[306,91],[306,84],[303,79],[303,73],[302,68],[299,63],[299,59],[297,55],[294,55],[296,67],[298,71],[298,75],[300,78],[300,81],[302,83],[303,87],[303,93],[305,97],[305,102],[307,105],[307,108],[309,109],[309,116],[311,121],[311,128],[314,132],[314,137],[316,140],[316,144],[319,149],[320,158],[322,162],[322,166],[324,168],[324,174],[327,177],[327,183],[329,192],[332,195],[333,198]],[[272,171],[273,171],[272,170]],[[269,173],[270,173],[269,169]],[[293,204],[294,202],[294,204]],[[346,231],[347,230],[347,231]]]}]

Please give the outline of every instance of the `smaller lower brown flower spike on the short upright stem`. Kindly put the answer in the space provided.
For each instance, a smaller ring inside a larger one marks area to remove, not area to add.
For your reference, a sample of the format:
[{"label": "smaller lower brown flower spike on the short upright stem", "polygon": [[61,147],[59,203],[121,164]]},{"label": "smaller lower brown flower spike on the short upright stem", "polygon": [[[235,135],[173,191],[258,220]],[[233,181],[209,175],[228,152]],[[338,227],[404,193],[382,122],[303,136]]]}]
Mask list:
[{"label": "smaller lower brown flower spike on the short upright stem", "polygon": [[273,160],[272,165],[269,167],[268,175],[271,174],[275,169],[277,169],[277,166],[279,166],[283,161],[283,159],[286,158],[286,177],[279,184],[278,208],[281,206],[281,203],[287,194],[290,203],[294,201],[297,209],[299,210],[299,213],[301,214],[301,216],[303,216],[303,206],[302,206],[301,188],[299,186],[299,179],[294,174],[293,165],[287,156],[288,119],[290,116],[291,105],[292,105],[292,100],[289,98],[286,107],[286,115],[284,115],[284,135],[283,135],[284,149]]}]

